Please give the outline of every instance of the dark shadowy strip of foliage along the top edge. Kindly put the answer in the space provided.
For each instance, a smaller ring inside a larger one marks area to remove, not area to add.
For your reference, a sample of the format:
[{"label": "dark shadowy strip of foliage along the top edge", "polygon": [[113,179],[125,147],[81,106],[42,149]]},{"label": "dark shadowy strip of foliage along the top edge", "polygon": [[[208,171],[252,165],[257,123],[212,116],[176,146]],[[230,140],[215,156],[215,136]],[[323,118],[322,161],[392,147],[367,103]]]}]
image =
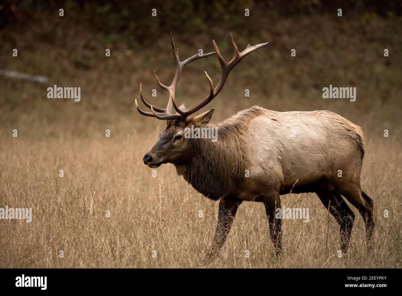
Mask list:
[{"label": "dark shadowy strip of foliage along the top edge", "polygon": [[[0,4],[0,29],[4,30],[10,24],[23,24],[31,19],[43,17],[44,12],[57,13],[59,8],[63,8],[65,15],[75,22],[89,23],[96,31],[129,35],[139,42],[146,41],[147,36],[155,34],[160,28],[196,34],[200,28],[209,25],[216,27],[216,24],[220,23],[230,24],[230,29],[248,33],[248,30],[258,29],[258,19],[275,20],[300,14],[336,15],[338,8],[342,8],[345,15],[353,13],[384,18],[402,15],[400,0],[4,0]],[[150,22],[154,8],[158,17]],[[246,8],[250,10],[250,19],[254,20],[250,23],[254,25],[245,25],[245,22],[250,20],[244,18]]]}]

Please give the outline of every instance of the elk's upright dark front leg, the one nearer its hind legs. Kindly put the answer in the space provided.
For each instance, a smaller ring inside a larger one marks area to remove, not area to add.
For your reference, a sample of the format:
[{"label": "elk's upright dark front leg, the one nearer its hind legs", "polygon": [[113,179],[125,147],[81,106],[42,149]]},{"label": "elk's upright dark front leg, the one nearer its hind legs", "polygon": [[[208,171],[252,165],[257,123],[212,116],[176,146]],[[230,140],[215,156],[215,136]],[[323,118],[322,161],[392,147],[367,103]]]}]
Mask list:
[{"label": "elk's upright dark front leg, the one nearer its hind legs", "polygon": [[282,220],[276,219],[275,213],[277,208],[281,208],[281,199],[279,193],[271,195],[261,195],[261,199],[265,205],[265,212],[268,217],[269,233],[275,247],[275,253],[279,256],[282,252]]}]

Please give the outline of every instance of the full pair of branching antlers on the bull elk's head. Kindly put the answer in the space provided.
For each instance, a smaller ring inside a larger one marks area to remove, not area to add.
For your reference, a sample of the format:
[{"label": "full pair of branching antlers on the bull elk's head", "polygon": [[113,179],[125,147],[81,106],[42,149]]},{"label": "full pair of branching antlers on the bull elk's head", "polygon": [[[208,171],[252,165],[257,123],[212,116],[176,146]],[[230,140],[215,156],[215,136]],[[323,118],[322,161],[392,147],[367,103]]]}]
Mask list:
[{"label": "full pair of branching antlers on the bull elk's head", "polygon": [[[176,74],[174,75],[172,85],[170,85],[170,87],[167,87],[166,85],[163,85],[162,83],[160,83],[158,77],[156,76],[156,74],[154,72],[155,77],[156,77],[156,82],[158,83],[158,85],[160,87],[162,87],[163,89],[165,89],[166,91],[169,91],[168,106],[166,107],[166,109],[161,109],[161,108],[156,108],[156,107],[154,108],[149,103],[147,103],[145,101],[144,97],[142,96],[142,86],[141,85],[140,85],[141,99],[142,99],[142,101],[144,102],[144,104],[147,107],[151,108],[152,113],[144,112],[141,109],[139,109],[138,104],[137,104],[137,100],[135,100],[135,106],[137,107],[139,113],[141,113],[143,115],[146,115],[146,116],[154,116],[154,117],[156,117],[158,119],[180,119],[181,121],[185,121],[188,116],[190,116],[191,114],[193,114],[193,113],[197,112],[198,110],[200,110],[201,108],[203,108],[214,97],[217,96],[217,94],[222,90],[222,88],[223,88],[223,86],[224,86],[224,84],[226,82],[226,79],[229,76],[230,71],[245,56],[247,56],[248,54],[250,54],[254,50],[256,50],[256,49],[268,44],[268,42],[260,43],[260,44],[254,45],[254,46],[250,46],[250,44],[248,44],[245,50],[243,50],[242,52],[239,52],[238,49],[237,49],[236,43],[234,43],[232,33],[230,33],[230,39],[232,41],[232,45],[233,45],[233,48],[234,48],[234,57],[232,58],[232,60],[230,62],[226,62],[224,60],[224,58],[222,57],[222,55],[220,54],[219,49],[216,46],[215,40],[213,40],[212,41],[213,42],[213,47],[215,48],[216,54],[218,56],[219,63],[221,64],[221,68],[222,68],[221,76],[219,77],[219,82],[218,82],[217,86],[214,89],[211,78],[209,78],[207,72],[204,71],[205,75],[207,76],[207,79],[209,81],[209,86],[210,86],[209,95],[207,97],[205,97],[203,100],[199,101],[194,106],[188,108],[187,110],[181,110],[180,108],[178,108],[178,106],[176,105],[176,101],[174,100],[174,90],[175,90],[176,84],[178,82],[178,78],[180,77],[181,70],[189,62],[192,62],[193,60],[197,60],[198,58],[202,58],[202,57],[205,57],[205,56],[210,56],[212,54],[215,54],[215,52],[210,52],[209,54],[205,54],[205,55],[203,55],[201,57],[198,56],[198,55],[195,55],[195,56],[192,56],[191,58],[188,58],[184,62],[180,62],[180,60],[178,59],[178,52],[174,51],[174,43],[173,43],[171,33],[170,33],[170,39],[172,40],[173,56],[174,56],[174,60],[176,61]],[[171,113],[172,105],[173,105],[174,109],[178,112],[178,114],[172,114]],[[154,110],[156,110],[157,112],[160,112],[160,113],[156,113]]]}]

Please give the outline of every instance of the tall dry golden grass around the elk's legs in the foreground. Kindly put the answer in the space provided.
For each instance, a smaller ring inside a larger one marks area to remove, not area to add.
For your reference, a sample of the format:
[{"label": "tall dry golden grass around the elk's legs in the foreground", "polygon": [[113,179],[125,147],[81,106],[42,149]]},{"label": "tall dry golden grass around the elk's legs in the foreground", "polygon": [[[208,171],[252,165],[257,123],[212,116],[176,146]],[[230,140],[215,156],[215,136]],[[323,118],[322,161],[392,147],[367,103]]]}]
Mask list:
[{"label": "tall dry golden grass around the elk's legs in the foreground", "polygon": [[[176,176],[172,165],[161,166],[152,177],[141,158],[153,138],[18,137],[3,143],[0,204],[32,207],[33,220],[0,221],[1,267],[400,267],[401,154],[392,143],[369,144],[363,168],[362,186],[374,200],[377,218],[373,258],[366,257],[360,215],[351,250],[340,259],[333,217],[328,219],[316,195],[291,194],[282,197],[282,205],[309,208],[310,221],[284,220],[284,252],[279,259],[263,205],[246,202],[219,259],[206,262],[218,205]],[[60,169],[64,178],[59,177]],[[388,218],[384,210],[389,211]],[[59,250],[64,258],[59,258]]]}]

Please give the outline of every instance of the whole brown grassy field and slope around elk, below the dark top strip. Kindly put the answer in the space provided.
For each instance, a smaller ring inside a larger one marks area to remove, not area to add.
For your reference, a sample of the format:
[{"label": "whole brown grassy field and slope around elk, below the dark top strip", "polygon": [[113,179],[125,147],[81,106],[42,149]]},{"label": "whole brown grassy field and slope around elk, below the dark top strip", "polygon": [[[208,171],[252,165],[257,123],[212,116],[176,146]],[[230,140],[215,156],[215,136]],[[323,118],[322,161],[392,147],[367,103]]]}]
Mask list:
[{"label": "whole brown grassy field and slope around elk, below the dark top strip", "polygon": [[[254,36],[232,32],[241,50],[247,43],[270,44],[236,66],[208,106],[216,108],[212,121],[259,105],[277,111],[327,109],[360,125],[366,141],[361,184],[373,198],[377,223],[369,257],[363,219],[351,206],[356,213],[351,249],[338,258],[338,224],[318,197],[283,195],[282,205],[309,208],[310,221],[283,221],[284,252],[277,258],[263,204],[245,202],[213,261],[205,256],[218,203],[178,177],[173,165],[162,165],[153,177],[142,161],[165,122],[138,114],[134,99],[143,83],[150,101],[165,104],[167,95],[152,71],[162,83],[172,78],[169,32],[152,36],[148,45],[127,45],[57,17],[32,22],[29,30],[11,26],[0,34],[0,69],[50,79],[42,85],[0,76],[0,207],[33,210],[31,223],[0,220],[0,267],[401,267],[400,19],[301,17],[279,20]],[[212,39],[229,57],[229,32],[205,30],[199,39],[173,34],[183,58],[199,47],[213,51]],[[12,57],[13,48],[18,57]],[[105,48],[111,48],[111,57],[105,57]],[[176,93],[188,104],[208,93],[203,70],[215,83],[219,77],[215,56],[193,64]],[[81,87],[81,101],[48,99],[46,89],[54,84]],[[330,84],[357,87],[356,101],[323,99],[322,88]],[[152,89],[157,97],[151,97]],[[18,137],[12,137],[14,129]],[[106,129],[111,137],[105,137]]]}]

